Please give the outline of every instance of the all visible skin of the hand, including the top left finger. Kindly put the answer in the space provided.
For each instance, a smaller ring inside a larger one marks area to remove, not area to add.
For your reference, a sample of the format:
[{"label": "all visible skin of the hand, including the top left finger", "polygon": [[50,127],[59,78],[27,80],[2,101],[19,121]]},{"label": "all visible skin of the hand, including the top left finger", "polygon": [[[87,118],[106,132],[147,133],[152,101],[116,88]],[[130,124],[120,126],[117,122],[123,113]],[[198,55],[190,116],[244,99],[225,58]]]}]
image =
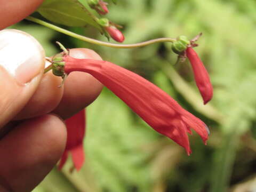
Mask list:
[{"label": "all visible skin of the hand, including the top left finger", "polygon": [[[4,15],[0,29],[27,17],[41,3],[0,0]],[[19,35],[22,38],[14,42],[12,37]],[[11,51],[3,53],[6,46]],[[70,55],[101,59],[88,49],[72,49]],[[43,74],[44,64],[44,50],[33,37],[15,30],[0,31],[0,191],[34,189],[65,149],[67,133],[62,119],[90,105],[102,90],[101,83],[82,72],[70,74],[60,88],[61,78],[51,72]],[[6,130],[10,131],[6,134]]]}]

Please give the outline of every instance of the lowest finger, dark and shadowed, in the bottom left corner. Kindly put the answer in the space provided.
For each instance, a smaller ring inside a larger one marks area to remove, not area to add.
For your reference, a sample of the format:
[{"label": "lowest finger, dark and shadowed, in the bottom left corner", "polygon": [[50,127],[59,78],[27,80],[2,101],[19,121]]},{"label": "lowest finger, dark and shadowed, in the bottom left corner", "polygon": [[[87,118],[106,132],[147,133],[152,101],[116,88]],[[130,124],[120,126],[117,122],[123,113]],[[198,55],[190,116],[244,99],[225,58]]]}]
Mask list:
[{"label": "lowest finger, dark and shadowed, in the bottom left corner", "polygon": [[6,191],[31,191],[58,162],[65,145],[66,127],[57,116],[23,122],[0,142],[0,185]]}]

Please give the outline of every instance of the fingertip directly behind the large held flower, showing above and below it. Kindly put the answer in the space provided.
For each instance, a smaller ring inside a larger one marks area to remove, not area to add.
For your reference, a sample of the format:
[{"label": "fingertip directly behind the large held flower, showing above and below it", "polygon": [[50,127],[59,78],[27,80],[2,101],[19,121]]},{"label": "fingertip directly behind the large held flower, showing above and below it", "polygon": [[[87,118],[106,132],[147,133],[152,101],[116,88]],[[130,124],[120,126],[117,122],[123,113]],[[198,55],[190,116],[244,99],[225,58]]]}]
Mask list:
[{"label": "fingertip directly behind the large held flower, showing above and below it", "polygon": [[[72,49],[70,55],[78,59],[102,60],[97,53],[89,49]],[[90,105],[99,96],[102,87],[103,85],[90,74],[83,72],[70,73],[64,84],[62,100],[54,113],[63,119],[73,116]]]}]

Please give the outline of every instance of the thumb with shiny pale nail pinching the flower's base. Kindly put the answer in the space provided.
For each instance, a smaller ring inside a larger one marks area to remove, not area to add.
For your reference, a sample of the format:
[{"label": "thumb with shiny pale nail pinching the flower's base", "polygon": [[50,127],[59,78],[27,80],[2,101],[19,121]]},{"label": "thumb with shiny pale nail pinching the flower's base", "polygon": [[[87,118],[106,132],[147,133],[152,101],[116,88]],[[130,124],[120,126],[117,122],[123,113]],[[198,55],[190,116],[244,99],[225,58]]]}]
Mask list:
[{"label": "thumb with shiny pale nail pinching the flower's base", "polygon": [[43,47],[19,30],[0,31],[0,129],[28,102],[42,78]]}]

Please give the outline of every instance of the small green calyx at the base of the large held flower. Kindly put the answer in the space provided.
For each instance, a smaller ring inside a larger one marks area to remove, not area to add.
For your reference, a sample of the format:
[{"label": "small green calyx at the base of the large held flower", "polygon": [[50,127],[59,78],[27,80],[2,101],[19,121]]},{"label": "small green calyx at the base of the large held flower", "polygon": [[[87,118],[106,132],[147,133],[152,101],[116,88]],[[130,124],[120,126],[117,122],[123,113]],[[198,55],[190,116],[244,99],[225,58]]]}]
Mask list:
[{"label": "small green calyx at the base of the large held flower", "polygon": [[52,73],[56,76],[64,77],[66,75],[64,71],[65,62],[63,56],[66,53],[59,53],[52,58]]}]

